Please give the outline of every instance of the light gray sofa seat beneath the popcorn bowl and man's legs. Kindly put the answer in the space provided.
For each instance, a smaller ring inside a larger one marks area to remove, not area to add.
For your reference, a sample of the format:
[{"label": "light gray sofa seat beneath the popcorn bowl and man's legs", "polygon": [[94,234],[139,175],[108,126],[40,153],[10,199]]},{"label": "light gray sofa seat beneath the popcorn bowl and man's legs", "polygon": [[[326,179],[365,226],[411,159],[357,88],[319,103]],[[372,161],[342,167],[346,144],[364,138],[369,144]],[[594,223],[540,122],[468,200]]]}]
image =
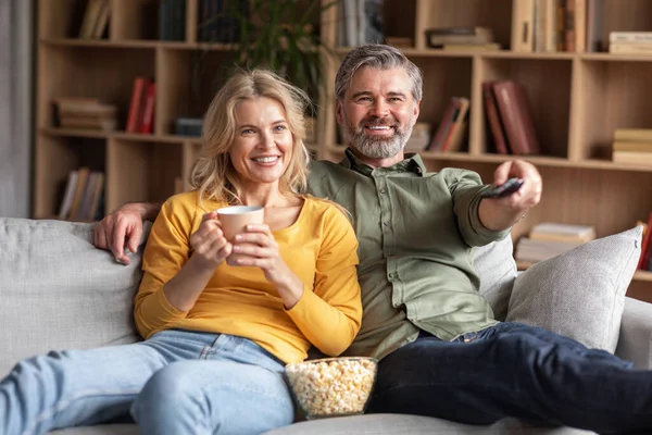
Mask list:
[{"label": "light gray sofa seat beneath the popcorn bowl and man's legs", "polygon": [[265,435],[582,435],[593,432],[567,427],[535,427],[514,419],[503,419],[489,426],[476,426],[435,419],[431,417],[403,414],[367,414],[312,420],[294,423],[265,433]]}]

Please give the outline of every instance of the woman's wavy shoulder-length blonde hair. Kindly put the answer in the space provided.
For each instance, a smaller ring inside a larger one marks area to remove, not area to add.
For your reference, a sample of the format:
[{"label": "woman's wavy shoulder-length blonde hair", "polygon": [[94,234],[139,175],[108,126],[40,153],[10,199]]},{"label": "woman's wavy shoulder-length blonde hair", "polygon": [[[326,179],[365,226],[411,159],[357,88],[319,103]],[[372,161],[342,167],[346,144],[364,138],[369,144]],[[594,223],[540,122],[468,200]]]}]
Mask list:
[{"label": "woman's wavy shoulder-length blonde hair", "polygon": [[244,100],[266,97],[276,100],[286,111],[292,134],[292,156],[279,179],[281,195],[305,196],[310,154],[305,138],[308,95],[271,71],[256,69],[239,71],[220,89],[206,114],[202,132],[203,147],[192,165],[190,185],[200,198],[218,202],[241,203],[241,186],[229,157],[236,137],[235,111]]}]

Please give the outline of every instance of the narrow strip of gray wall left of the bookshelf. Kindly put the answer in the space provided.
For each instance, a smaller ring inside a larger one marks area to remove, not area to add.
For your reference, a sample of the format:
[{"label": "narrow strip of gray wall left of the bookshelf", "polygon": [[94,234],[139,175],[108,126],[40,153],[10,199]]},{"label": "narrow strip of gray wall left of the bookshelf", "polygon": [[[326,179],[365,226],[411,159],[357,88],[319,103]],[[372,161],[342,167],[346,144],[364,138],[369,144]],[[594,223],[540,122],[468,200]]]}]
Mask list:
[{"label": "narrow strip of gray wall left of the bookshelf", "polygon": [[28,217],[33,2],[0,0],[0,216]]}]

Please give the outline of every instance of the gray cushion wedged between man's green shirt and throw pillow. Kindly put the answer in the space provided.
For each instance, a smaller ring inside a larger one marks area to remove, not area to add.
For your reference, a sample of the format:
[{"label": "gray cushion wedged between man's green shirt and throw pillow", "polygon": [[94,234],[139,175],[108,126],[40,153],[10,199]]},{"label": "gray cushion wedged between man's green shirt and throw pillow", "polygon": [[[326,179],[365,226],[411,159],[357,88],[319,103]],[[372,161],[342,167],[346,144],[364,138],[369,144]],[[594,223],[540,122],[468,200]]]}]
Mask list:
[{"label": "gray cushion wedged between man's green shirt and throw pillow", "polygon": [[473,264],[480,275],[480,295],[487,299],[496,319],[503,321],[507,314],[510,295],[517,271],[512,256],[512,237],[474,248]]}]

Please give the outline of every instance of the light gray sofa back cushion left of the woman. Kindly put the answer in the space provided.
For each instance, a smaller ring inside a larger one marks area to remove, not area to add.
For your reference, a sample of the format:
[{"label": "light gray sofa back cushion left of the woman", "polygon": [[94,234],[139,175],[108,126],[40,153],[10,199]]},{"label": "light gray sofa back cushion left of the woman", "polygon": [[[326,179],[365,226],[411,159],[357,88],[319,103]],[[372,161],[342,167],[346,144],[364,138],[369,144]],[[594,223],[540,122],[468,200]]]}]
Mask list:
[{"label": "light gray sofa back cushion left of the woman", "polygon": [[92,245],[93,228],[0,219],[0,377],[49,350],[139,339],[131,310],[141,252],[120,264]]}]

